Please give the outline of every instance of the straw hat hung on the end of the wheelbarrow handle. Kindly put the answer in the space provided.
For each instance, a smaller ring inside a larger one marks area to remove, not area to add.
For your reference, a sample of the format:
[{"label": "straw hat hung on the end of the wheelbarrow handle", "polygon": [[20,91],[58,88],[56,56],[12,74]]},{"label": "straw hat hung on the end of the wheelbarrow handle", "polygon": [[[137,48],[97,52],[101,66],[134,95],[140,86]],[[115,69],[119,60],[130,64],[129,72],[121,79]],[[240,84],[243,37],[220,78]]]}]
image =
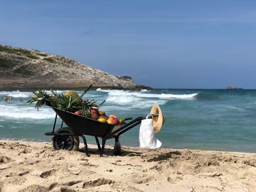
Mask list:
[{"label": "straw hat hung on the end of the wheelbarrow handle", "polygon": [[158,104],[153,104],[150,114],[158,114],[158,117],[153,118],[154,133],[158,133],[161,130],[162,125],[165,123],[164,115],[162,114]]}]

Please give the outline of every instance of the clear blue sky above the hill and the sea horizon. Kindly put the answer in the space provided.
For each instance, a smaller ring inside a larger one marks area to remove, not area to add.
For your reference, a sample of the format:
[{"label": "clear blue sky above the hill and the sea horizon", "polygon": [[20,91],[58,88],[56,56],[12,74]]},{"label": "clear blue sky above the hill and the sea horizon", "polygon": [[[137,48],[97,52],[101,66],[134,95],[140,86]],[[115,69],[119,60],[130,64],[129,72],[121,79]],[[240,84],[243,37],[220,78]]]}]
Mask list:
[{"label": "clear blue sky above the hill and the sea horizon", "polygon": [[256,88],[256,1],[1,1],[0,44],[153,88]]}]

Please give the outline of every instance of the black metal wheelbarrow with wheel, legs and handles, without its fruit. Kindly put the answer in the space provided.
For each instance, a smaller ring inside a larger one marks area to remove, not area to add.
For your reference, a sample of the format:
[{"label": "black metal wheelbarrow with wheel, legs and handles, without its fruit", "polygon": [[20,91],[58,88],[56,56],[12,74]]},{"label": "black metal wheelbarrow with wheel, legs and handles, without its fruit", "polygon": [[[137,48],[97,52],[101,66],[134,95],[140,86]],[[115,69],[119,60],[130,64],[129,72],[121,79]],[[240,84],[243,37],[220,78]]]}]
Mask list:
[{"label": "black metal wheelbarrow with wheel, legs and handles, without its fruit", "polygon": [[[45,135],[53,136],[53,147],[56,150],[74,150],[78,149],[79,139],[83,138],[83,143],[85,146],[86,155],[89,155],[88,146],[86,142],[86,137],[84,135],[93,136],[96,139],[98,150],[100,151],[100,156],[104,153],[105,142],[107,139],[115,139],[118,142],[118,138],[121,134],[124,134],[129,129],[137,126],[143,120],[143,117],[138,117],[132,120],[132,118],[126,118],[125,120],[130,120],[129,123],[124,123],[123,125],[113,126],[108,123],[101,123],[97,120],[86,118],[81,115],[76,115],[72,112],[65,110],[59,110],[52,107],[56,112],[56,118],[53,124],[53,131],[45,133]],[[61,128],[55,131],[57,117],[61,118]],[[63,128],[63,122],[68,126]],[[102,138],[102,146],[99,144],[98,137]]]}]

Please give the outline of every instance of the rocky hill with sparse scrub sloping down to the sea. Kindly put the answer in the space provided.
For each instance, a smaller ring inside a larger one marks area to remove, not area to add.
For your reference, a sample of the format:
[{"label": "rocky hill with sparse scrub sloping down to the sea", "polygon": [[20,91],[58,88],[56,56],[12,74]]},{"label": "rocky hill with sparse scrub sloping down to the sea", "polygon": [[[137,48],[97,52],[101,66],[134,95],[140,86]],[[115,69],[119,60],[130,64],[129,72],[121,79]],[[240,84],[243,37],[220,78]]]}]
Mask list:
[{"label": "rocky hill with sparse scrub sloping down to the sea", "polygon": [[0,90],[58,88],[140,89],[132,77],[113,76],[69,58],[38,50],[0,45]]}]

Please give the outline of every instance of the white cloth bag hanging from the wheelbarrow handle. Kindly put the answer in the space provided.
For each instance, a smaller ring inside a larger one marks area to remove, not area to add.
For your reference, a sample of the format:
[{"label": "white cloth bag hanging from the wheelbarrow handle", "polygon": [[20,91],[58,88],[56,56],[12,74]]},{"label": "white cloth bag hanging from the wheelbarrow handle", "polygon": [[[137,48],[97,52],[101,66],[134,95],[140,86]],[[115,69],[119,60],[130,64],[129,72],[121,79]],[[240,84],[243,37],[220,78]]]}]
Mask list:
[{"label": "white cloth bag hanging from the wheelbarrow handle", "polygon": [[141,120],[139,140],[140,147],[143,148],[156,149],[162,145],[162,142],[154,137],[153,119],[148,116]]}]

